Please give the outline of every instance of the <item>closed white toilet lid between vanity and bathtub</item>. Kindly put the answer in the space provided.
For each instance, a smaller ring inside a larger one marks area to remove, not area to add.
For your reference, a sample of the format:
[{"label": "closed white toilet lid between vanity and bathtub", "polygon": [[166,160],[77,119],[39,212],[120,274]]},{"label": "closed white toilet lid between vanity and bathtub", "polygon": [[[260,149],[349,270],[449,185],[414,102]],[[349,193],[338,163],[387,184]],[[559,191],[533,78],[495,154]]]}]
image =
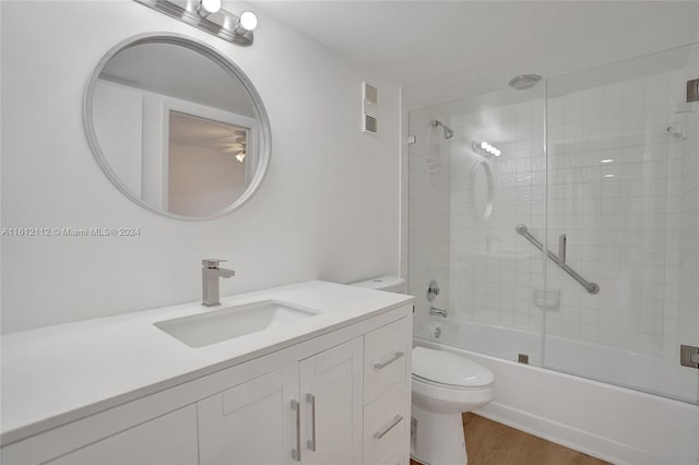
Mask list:
[{"label": "closed white toilet lid between vanity and bathtub", "polygon": [[475,388],[493,382],[490,370],[473,360],[443,350],[413,348],[413,374],[442,384]]}]

